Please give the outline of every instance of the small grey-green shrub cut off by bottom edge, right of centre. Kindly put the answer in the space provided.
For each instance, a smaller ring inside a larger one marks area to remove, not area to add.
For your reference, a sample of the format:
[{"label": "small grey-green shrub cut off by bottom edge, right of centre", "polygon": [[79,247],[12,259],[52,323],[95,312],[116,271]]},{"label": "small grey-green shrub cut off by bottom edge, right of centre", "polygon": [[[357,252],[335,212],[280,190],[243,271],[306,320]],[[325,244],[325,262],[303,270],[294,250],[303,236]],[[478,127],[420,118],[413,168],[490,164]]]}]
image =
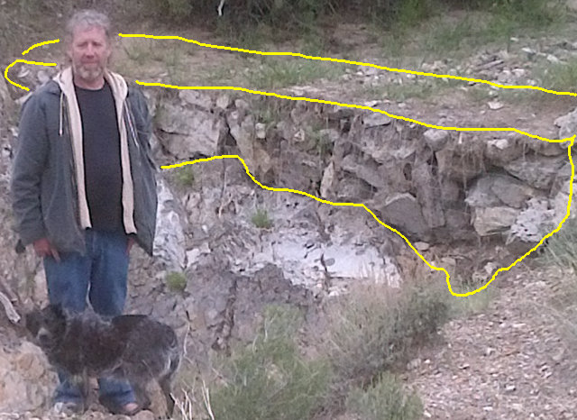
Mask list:
[{"label": "small grey-green shrub cut off by bottom edge, right of centre", "polygon": [[367,389],[353,388],[346,407],[363,420],[419,420],[423,415],[418,395],[406,395],[402,384],[389,373],[380,375]]}]

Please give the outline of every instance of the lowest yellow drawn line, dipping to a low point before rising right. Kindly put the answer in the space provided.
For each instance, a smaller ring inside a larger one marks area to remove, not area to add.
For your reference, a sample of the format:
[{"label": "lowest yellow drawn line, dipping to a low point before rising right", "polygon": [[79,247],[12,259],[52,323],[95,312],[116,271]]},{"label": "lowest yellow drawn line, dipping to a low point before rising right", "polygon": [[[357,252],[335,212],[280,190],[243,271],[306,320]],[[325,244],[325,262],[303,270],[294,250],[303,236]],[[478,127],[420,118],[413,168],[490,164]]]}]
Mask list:
[{"label": "lowest yellow drawn line, dipping to a low point before rising right", "polygon": [[365,209],[371,216],[373,219],[375,219],[379,224],[381,224],[382,226],[386,227],[387,229],[389,229],[389,231],[393,232],[393,233],[397,233],[398,236],[400,236],[401,238],[403,238],[403,240],[405,242],[407,242],[408,246],[410,247],[411,250],[415,251],[415,253],[418,255],[418,257],[423,260],[426,265],[430,268],[430,269],[434,269],[435,271],[443,271],[444,272],[444,276],[446,278],[446,283],[447,283],[447,287],[449,288],[449,291],[451,292],[451,294],[454,297],[468,297],[471,295],[474,295],[477,292],[480,292],[481,290],[487,288],[490,283],[497,277],[497,275],[499,274],[499,272],[501,271],[508,271],[509,269],[515,267],[515,265],[517,264],[517,262],[520,262],[522,260],[524,260],[531,252],[535,251],[539,246],[541,246],[541,244],[543,242],[545,242],[545,240],[549,237],[551,237],[554,233],[559,232],[559,230],[561,229],[561,226],[563,226],[563,223],[565,223],[565,221],[567,220],[567,218],[569,217],[569,214],[571,212],[571,201],[572,201],[572,189],[573,189],[573,178],[575,176],[575,167],[573,166],[573,161],[572,161],[572,157],[571,157],[571,147],[572,144],[575,140],[575,136],[572,136],[570,139],[571,144],[569,145],[569,147],[567,148],[567,154],[569,156],[569,162],[571,163],[571,180],[569,183],[569,202],[567,203],[567,212],[565,214],[565,216],[563,217],[563,220],[561,221],[561,223],[556,227],[556,229],[554,229],[553,232],[551,233],[547,233],[545,235],[545,237],[539,242],[537,243],[533,248],[531,248],[529,251],[527,251],[525,253],[525,255],[523,255],[522,257],[517,258],[517,260],[515,260],[512,264],[510,264],[508,267],[502,267],[500,269],[498,269],[497,271],[495,271],[495,274],[493,274],[493,276],[487,281],[487,283],[485,283],[483,286],[481,286],[481,288],[477,288],[475,290],[472,290],[470,292],[466,292],[466,293],[455,293],[453,291],[453,288],[451,287],[451,281],[450,278],[451,276],[449,275],[449,272],[444,269],[443,267],[436,267],[433,264],[431,264],[429,261],[426,260],[425,257],[423,257],[423,255],[421,255],[419,253],[419,251],[417,251],[417,249],[413,246],[413,244],[411,242],[408,241],[407,237],[398,232],[397,229],[389,226],[388,224],[383,223],[379,217],[377,217],[369,207],[367,207],[366,205],[363,205],[362,203],[334,203],[332,201],[328,201],[325,200],[323,198],[319,198],[317,196],[313,196],[311,194],[308,194],[304,191],[299,191],[298,189],[291,189],[291,188],[277,188],[277,187],[267,187],[265,185],[262,185],[261,182],[259,182],[259,180],[257,178],[254,178],[254,176],[252,175],[251,171],[249,170],[248,166],[246,165],[246,163],[244,162],[243,158],[241,158],[238,155],[221,155],[221,156],[213,156],[211,158],[204,158],[204,159],[197,159],[197,160],[189,160],[186,162],[181,162],[181,163],[175,163],[173,165],[164,165],[161,166],[161,169],[173,169],[173,168],[180,168],[183,167],[185,165],[194,165],[195,163],[200,163],[200,162],[209,162],[211,160],[222,160],[222,159],[237,159],[240,160],[240,162],[243,164],[244,167],[244,171],[247,173],[247,175],[252,179],[252,182],[254,182],[256,185],[258,185],[259,187],[261,187],[262,189],[266,189],[268,191],[275,191],[275,192],[285,192],[285,193],[293,193],[293,194],[298,194],[300,196],[307,196],[309,198],[312,198],[316,201],[318,201],[319,203],[323,203],[323,204],[327,204],[327,205],[334,205],[337,207],[362,207],[363,209]]}]

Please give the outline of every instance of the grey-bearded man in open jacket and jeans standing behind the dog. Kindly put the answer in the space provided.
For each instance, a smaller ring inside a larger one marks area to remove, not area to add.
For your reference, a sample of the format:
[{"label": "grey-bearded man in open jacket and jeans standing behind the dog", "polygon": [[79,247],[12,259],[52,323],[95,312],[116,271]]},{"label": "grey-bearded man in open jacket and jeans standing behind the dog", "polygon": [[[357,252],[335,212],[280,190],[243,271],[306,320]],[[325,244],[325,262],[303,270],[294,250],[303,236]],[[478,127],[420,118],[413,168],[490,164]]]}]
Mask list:
[{"label": "grey-bearded man in open jacket and jeans standing behind the dog", "polygon": [[[81,312],[120,315],[133,242],[152,253],[156,181],[151,119],[142,93],[107,69],[112,51],[104,14],[81,11],[67,26],[71,66],[25,102],[14,156],[12,195],[23,245],[43,258],[49,299]],[[60,373],[58,411],[84,410]],[[124,382],[99,379],[114,413],[142,407]]]}]

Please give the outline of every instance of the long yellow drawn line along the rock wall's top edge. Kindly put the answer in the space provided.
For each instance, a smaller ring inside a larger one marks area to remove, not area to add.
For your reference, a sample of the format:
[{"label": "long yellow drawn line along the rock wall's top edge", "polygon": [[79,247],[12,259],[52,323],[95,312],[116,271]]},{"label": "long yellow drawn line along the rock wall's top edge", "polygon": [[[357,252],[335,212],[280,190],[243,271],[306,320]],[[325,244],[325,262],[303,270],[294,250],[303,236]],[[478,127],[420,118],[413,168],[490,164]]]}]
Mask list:
[{"label": "long yellow drawn line along the rock wall's top edge", "polygon": [[413,118],[408,118],[402,115],[395,115],[389,114],[387,111],[383,111],[382,109],[372,108],[371,106],[364,106],[364,105],[356,105],[356,104],[345,104],[342,102],[334,102],[334,101],[326,101],[325,99],[314,99],[306,96],[287,96],[287,95],[279,95],[274,92],[263,92],[261,90],[252,90],[247,89],[245,87],[233,87],[233,86],[176,86],[176,85],[166,85],[164,83],[152,83],[152,82],[141,82],[140,80],[135,80],[138,85],[142,86],[149,86],[149,87],[169,87],[171,89],[181,89],[181,90],[238,90],[242,92],[248,92],[253,95],[262,95],[262,96],[274,96],[280,99],[289,99],[291,101],[305,101],[305,102],[314,102],[318,104],[328,104],[328,105],[338,105],[343,106],[346,108],[357,108],[357,109],[364,109],[368,111],[372,111],[374,113],[385,114],[390,118],[395,118],[397,120],[407,121],[408,123],[417,123],[419,125],[423,125],[428,128],[435,128],[437,130],[447,130],[453,132],[517,132],[519,134],[526,135],[527,137],[531,137],[534,139],[538,139],[544,142],[552,142],[552,143],[563,143],[568,142],[571,138],[567,137],[565,139],[548,139],[546,137],[541,137],[536,134],[531,134],[530,132],[524,132],[518,130],[517,128],[513,127],[445,127],[444,125],[435,125],[429,123],[423,123],[421,121],[415,120]]}]

